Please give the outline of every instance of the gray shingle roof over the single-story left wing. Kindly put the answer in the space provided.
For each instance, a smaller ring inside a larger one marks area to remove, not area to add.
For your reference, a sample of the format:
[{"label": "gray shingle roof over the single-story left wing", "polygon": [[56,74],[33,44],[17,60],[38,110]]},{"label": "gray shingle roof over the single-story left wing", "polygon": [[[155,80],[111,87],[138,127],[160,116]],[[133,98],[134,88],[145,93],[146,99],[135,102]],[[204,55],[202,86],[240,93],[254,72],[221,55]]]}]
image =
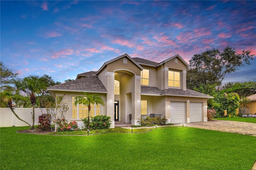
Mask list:
[{"label": "gray shingle roof over the single-story left wing", "polygon": [[107,93],[106,88],[97,76],[84,77],[82,79],[54,85],[49,87],[48,90],[93,91]]}]

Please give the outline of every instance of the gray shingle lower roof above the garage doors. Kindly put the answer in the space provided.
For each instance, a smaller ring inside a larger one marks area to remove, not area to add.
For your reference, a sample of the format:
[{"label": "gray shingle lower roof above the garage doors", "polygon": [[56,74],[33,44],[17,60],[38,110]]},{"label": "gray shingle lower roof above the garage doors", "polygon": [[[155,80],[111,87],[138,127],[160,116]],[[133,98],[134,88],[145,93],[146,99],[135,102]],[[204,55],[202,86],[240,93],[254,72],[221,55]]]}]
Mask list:
[{"label": "gray shingle lower roof above the garage doors", "polygon": [[212,96],[200,93],[191,89],[186,91],[182,89],[164,89],[160,90],[157,87],[141,86],[141,93],[148,95],[171,95],[171,96],[185,96],[185,97],[203,97],[203,98],[213,98]]}]

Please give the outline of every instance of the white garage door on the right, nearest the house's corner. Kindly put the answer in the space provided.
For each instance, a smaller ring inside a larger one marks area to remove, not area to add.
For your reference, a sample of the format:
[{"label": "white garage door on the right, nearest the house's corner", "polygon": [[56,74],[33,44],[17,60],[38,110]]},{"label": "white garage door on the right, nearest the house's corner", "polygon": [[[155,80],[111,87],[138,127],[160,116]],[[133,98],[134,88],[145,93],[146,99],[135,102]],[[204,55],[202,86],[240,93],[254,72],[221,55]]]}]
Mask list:
[{"label": "white garage door on the right, nearest the house's corner", "polygon": [[190,122],[203,121],[203,103],[190,102]]}]

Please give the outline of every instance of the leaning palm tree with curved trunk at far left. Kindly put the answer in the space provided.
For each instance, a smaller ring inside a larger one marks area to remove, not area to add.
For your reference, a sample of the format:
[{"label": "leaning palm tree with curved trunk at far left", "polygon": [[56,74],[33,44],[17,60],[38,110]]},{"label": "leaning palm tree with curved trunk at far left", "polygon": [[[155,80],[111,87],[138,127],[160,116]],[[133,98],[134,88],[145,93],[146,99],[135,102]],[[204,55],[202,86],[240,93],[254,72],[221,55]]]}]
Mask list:
[{"label": "leaning palm tree with curved trunk at far left", "polygon": [[12,99],[17,102],[17,101],[19,101],[19,100],[23,100],[23,96],[20,95],[20,94],[18,94],[18,93],[15,93],[15,94],[14,94],[14,93],[11,92],[11,91],[3,91],[3,92],[0,93],[0,96],[1,96],[1,98],[3,98],[3,99],[5,99],[5,100],[8,101],[8,107],[11,109],[12,113],[13,113],[20,121],[22,121],[22,122],[28,124],[29,127],[30,127],[30,129],[32,129],[32,126],[31,126],[28,122],[26,122],[26,121],[20,119],[20,117],[15,113],[15,111],[14,111],[14,109],[13,109],[13,107],[12,107]]}]

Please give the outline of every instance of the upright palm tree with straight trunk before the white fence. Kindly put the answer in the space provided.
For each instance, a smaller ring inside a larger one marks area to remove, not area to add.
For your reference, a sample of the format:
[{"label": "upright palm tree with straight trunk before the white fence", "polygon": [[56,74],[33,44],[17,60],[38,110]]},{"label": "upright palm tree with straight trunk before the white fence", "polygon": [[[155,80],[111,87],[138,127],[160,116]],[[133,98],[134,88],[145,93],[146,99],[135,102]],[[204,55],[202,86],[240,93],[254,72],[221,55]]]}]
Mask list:
[{"label": "upright palm tree with straight trunk before the white fence", "polygon": [[33,108],[32,128],[33,129],[35,124],[35,103],[36,103],[35,95],[40,93],[41,87],[42,87],[42,84],[40,83],[38,76],[30,75],[28,77],[25,77],[22,80],[22,91],[30,95],[30,101],[32,103],[32,108]]}]

